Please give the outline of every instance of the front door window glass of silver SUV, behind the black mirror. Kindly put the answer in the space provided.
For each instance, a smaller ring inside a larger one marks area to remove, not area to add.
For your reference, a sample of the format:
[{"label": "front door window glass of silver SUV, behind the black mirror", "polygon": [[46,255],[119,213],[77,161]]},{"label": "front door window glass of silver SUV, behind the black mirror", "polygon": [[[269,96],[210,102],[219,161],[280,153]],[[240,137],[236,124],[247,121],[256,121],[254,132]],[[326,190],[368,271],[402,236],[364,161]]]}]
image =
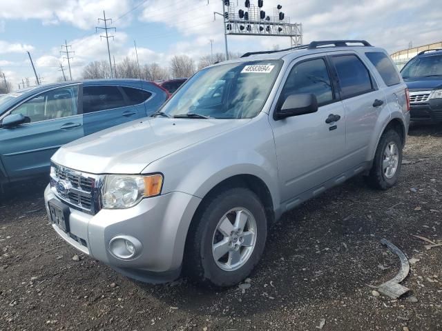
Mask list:
[{"label": "front door window glass of silver SUV, behind the black mirror", "polygon": [[294,93],[312,93],[321,106],[333,100],[332,83],[323,59],[296,64],[291,69],[281,95],[286,98]]}]

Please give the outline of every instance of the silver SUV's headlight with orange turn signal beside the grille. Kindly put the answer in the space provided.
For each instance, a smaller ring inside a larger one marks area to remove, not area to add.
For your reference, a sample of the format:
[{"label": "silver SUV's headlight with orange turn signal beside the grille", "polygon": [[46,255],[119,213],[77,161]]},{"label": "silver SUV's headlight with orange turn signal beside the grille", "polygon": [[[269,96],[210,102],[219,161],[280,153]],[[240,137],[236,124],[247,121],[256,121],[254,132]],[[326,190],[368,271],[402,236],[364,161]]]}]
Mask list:
[{"label": "silver SUV's headlight with orange turn signal beside the grille", "polygon": [[162,182],[161,174],[148,176],[106,175],[102,191],[103,208],[131,208],[144,197],[154,197],[160,194]]}]

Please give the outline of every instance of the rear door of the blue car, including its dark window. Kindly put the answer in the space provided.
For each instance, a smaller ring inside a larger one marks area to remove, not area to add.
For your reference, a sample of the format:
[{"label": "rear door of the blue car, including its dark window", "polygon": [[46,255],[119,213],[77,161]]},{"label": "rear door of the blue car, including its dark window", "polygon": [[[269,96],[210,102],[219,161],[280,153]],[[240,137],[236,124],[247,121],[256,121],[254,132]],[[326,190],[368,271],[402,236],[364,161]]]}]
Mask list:
[{"label": "rear door of the blue car, including its dark window", "polygon": [[83,86],[84,134],[117,126],[146,116],[143,104],[131,104],[122,87]]}]

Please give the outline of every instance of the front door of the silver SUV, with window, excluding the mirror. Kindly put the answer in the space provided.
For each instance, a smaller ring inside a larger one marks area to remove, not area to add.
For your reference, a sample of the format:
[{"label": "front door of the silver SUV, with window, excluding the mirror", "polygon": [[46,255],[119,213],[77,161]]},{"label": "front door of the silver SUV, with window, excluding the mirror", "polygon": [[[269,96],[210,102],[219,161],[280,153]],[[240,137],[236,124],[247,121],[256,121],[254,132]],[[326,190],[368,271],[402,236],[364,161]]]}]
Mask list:
[{"label": "front door of the silver SUV, with window, excluding the mirror", "polygon": [[[318,112],[275,121],[271,126],[278,159],[282,201],[336,177],[345,159],[345,112],[334,92],[325,57],[310,57],[292,65],[278,103],[293,93],[313,93]],[[337,121],[327,121],[337,115]]]}]

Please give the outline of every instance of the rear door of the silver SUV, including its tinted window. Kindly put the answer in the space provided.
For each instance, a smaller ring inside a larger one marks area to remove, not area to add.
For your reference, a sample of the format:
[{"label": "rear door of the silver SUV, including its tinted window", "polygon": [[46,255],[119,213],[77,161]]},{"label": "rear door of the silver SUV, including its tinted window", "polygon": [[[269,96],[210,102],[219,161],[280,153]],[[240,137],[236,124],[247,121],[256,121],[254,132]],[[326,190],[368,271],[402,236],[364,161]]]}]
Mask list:
[{"label": "rear door of the silver SUV, including its tinted window", "polygon": [[385,94],[378,89],[367,66],[356,53],[330,56],[338,79],[346,117],[346,168],[367,161],[367,152],[378,116],[385,108]]}]

